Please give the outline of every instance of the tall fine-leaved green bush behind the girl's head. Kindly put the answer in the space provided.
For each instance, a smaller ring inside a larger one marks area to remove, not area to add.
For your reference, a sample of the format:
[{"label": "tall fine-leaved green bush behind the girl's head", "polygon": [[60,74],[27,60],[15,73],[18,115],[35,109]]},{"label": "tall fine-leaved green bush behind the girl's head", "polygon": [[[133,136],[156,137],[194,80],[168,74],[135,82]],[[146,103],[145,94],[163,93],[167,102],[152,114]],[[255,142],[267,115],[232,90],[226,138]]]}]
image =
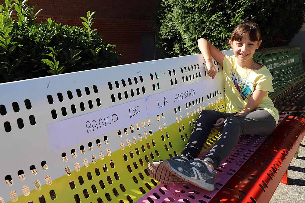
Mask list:
[{"label": "tall fine-leaved green bush behind the girl's head", "polygon": [[261,47],[288,45],[305,22],[304,0],[159,0],[157,25],[160,45],[168,56],[200,53],[203,37],[218,49],[231,48],[228,40],[239,22],[250,16],[259,24]]}]

